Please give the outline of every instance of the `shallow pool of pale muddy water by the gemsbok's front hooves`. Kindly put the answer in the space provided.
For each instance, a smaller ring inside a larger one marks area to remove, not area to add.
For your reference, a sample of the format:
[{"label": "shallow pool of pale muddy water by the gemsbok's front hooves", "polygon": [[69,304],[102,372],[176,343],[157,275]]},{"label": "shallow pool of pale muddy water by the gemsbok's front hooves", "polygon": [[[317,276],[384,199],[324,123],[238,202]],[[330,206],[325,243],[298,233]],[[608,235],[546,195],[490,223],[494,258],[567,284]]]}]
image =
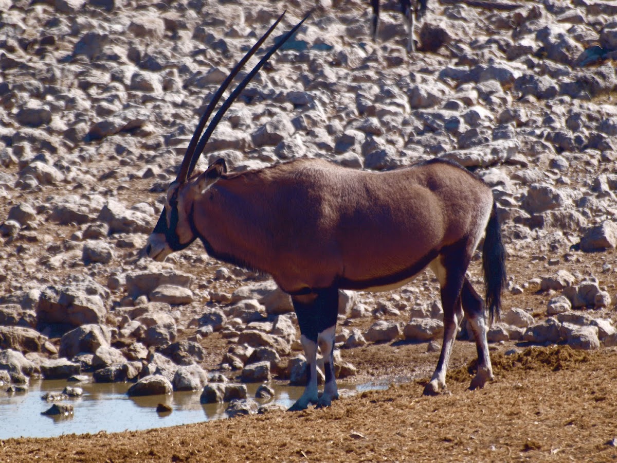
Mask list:
[{"label": "shallow pool of pale muddy water by the gemsbok's front hooves", "polygon": [[[65,386],[83,388],[83,396],[58,401],[71,404],[74,414],[68,417],[41,415],[54,404],[41,399],[45,393],[61,393]],[[67,383],[65,380],[33,381],[27,393],[0,392],[0,439],[10,437],[52,437],[62,434],[83,434],[144,430],[197,423],[226,418],[227,404],[201,404],[201,391],[176,392],[167,396],[128,397],[131,383]],[[247,385],[248,397],[254,397],[259,384]],[[275,398],[258,403],[275,402],[290,407],[304,388],[273,385]],[[383,389],[385,383],[341,385],[347,393]],[[4,390],[4,388],[2,388]],[[156,412],[158,404],[172,407],[167,414]]]}]

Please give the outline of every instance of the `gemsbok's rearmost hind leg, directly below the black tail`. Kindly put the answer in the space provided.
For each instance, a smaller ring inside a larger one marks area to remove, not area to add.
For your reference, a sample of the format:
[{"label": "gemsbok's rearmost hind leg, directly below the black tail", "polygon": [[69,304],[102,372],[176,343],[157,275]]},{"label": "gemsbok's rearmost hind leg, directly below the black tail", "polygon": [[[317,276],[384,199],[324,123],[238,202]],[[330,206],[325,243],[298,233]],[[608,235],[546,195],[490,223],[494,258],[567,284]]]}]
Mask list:
[{"label": "gemsbok's rearmost hind leg, directly below the black tail", "polygon": [[478,372],[471,380],[470,386],[470,389],[476,389],[484,386],[487,380],[492,380],[493,369],[491,366],[491,356],[489,355],[489,344],[486,340],[487,330],[484,317],[484,302],[467,278],[465,278],[463,283],[461,301],[473,332],[473,337],[476,340],[476,349],[478,350]]}]

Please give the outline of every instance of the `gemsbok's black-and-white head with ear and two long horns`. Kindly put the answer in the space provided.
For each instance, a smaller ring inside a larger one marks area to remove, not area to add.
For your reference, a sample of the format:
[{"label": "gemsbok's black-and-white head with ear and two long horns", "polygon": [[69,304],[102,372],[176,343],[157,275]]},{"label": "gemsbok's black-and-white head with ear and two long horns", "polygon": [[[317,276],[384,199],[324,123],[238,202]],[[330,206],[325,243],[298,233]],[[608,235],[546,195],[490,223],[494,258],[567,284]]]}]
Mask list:
[{"label": "gemsbok's black-and-white head with ear and two long horns", "polygon": [[[186,248],[189,244],[193,243],[197,238],[196,231],[194,230],[193,219],[191,217],[192,205],[194,201],[199,198],[204,192],[212,186],[225,172],[226,165],[223,159],[213,162],[208,169],[197,175],[191,177],[193,169],[199,160],[201,152],[204,151],[205,144],[212,135],[212,132],[217,127],[218,122],[222,119],[227,109],[231,106],[231,103],[238,97],[244,87],[251,81],[251,79],[259,72],[263,64],[272,56],[276,50],[278,50],[283,43],[285,43],[304,23],[304,21],[310,16],[312,10],[305,15],[305,17],[297,23],[288,33],[283,35],[278,42],[270,48],[270,50],[262,57],[257,65],[249,72],[249,74],[238,84],[234,91],[223,102],[218,109],[217,114],[210,121],[208,127],[202,135],[205,123],[208,122],[210,115],[214,111],[215,106],[220,100],[221,96],[225,92],[226,88],[230,85],[231,81],[242,69],[244,64],[251,58],[251,56],[259,49],[263,41],[266,40],[271,31],[273,31],[278,23],[283,19],[283,14],[276,20],[276,22],[268,29],[268,31],[260,38],[257,43],[247,52],[247,54],[236,64],[230,75],[223,81],[220,88],[214,94],[212,101],[205,109],[202,115],[191,143],[189,143],[184,154],[184,159],[180,165],[178,177],[170,185],[167,191],[167,198],[165,199],[165,207],[160,214],[159,221],[157,222],[151,235],[148,237],[144,252],[147,256],[157,261],[163,261],[165,257],[174,251],[180,251]],[[201,138],[200,138],[201,137]]]}]

